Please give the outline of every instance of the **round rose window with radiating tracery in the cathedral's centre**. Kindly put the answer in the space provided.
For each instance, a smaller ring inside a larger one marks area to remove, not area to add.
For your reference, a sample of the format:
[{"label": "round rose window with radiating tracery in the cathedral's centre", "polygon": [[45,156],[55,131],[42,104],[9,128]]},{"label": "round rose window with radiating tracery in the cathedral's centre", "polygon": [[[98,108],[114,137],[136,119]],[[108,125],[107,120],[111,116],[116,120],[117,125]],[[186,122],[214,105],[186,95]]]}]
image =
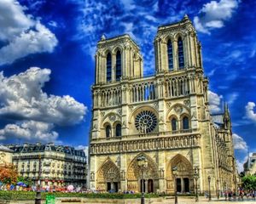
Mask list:
[{"label": "round rose window with radiating tracery in the cathedral's centre", "polygon": [[151,133],[157,124],[157,118],[152,111],[141,111],[135,118],[135,127],[139,133]]}]

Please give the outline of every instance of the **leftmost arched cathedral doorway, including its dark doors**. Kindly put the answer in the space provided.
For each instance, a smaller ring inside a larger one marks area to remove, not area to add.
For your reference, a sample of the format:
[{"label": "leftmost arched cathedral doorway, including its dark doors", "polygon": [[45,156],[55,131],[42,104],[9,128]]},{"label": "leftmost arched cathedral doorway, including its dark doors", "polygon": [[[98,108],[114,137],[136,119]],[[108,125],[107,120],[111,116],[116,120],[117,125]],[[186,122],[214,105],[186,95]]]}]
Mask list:
[{"label": "leftmost arched cathedral doorway, including its dark doors", "polygon": [[118,192],[120,188],[119,168],[108,158],[97,172],[97,190]]}]

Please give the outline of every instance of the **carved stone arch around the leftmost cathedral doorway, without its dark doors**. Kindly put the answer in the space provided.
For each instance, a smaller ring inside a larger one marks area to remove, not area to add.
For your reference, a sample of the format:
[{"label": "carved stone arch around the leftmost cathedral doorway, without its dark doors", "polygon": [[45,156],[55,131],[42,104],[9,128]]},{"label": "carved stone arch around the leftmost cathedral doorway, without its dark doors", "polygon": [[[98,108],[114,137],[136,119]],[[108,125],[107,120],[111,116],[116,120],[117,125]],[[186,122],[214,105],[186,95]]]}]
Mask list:
[{"label": "carved stone arch around the leftmost cathedral doorway, without its dark doors", "polygon": [[96,190],[107,191],[108,183],[120,182],[119,167],[108,157],[96,173]]}]

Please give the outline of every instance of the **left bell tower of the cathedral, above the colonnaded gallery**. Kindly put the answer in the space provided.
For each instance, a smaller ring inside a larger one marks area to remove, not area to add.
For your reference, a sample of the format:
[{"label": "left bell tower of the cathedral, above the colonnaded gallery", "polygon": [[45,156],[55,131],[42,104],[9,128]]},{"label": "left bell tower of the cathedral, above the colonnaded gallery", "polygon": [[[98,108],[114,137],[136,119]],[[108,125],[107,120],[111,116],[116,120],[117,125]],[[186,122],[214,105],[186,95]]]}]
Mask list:
[{"label": "left bell tower of the cathedral, above the colonnaded gallery", "polygon": [[128,34],[108,39],[103,35],[95,57],[96,84],[143,77],[143,57]]}]

